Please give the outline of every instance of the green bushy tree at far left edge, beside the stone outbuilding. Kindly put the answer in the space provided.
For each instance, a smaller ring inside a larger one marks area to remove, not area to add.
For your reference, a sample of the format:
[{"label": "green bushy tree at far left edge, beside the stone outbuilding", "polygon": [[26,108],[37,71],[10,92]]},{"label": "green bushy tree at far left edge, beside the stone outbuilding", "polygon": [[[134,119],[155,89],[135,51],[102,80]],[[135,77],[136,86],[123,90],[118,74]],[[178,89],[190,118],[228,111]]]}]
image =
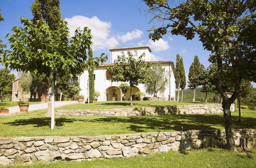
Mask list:
[{"label": "green bushy tree at far left edge, beside the stone outbuilding", "polygon": [[15,80],[15,75],[10,74],[10,70],[0,69],[0,96],[2,98],[3,94],[11,94],[12,93],[12,81]]}]

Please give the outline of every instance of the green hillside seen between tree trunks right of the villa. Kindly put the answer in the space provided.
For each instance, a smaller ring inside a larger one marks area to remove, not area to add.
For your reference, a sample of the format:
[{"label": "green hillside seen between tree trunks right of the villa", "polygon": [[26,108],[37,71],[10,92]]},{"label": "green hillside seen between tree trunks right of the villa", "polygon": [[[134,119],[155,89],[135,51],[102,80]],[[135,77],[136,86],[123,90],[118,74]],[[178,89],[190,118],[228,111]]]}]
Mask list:
[{"label": "green hillside seen between tree trunks right of the villa", "polygon": [[[201,101],[205,99],[205,93],[201,92],[202,88],[196,89],[196,101]],[[177,98],[178,91],[176,91]],[[181,90],[180,90],[180,100],[181,100]],[[183,101],[193,101],[193,91],[191,89],[183,90]],[[207,94],[207,102],[215,102],[215,94]]]}]

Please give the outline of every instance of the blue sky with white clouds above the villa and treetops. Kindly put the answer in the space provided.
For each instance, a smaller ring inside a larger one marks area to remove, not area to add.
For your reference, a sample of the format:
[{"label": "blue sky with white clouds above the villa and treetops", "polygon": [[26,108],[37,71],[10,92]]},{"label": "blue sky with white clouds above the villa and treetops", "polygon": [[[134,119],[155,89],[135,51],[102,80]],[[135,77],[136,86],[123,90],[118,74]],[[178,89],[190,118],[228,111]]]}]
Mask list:
[{"label": "blue sky with white clouds above the villa and treetops", "polygon": [[[30,6],[33,0],[0,0],[1,13],[5,20],[0,22],[0,39],[5,43],[6,34],[11,33],[13,26],[20,25],[20,17],[32,18]],[[147,9],[141,0],[60,0],[61,16],[65,17],[72,32],[76,27],[88,26],[93,33],[94,57],[101,53],[109,55],[112,47],[135,47],[148,45],[152,49],[152,59],[158,61],[176,62],[176,54],[183,57],[185,72],[194,56],[198,55],[200,62],[207,67],[210,52],[203,49],[198,38],[186,40],[182,36],[165,35],[161,40],[152,42],[148,38],[147,30],[150,16],[140,9]],[[110,61],[108,61],[110,62]],[[255,83],[253,85],[256,86]]]}]

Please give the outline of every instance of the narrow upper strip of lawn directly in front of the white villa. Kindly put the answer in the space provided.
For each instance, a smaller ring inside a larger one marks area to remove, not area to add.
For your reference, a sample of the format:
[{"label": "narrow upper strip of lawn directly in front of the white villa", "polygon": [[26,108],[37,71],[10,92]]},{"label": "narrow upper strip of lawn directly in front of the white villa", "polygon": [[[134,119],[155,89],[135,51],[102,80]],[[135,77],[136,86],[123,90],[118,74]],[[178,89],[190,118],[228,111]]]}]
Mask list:
[{"label": "narrow upper strip of lawn directly in front of the white villa", "polygon": [[187,105],[187,104],[204,104],[203,102],[180,102],[180,101],[101,101],[91,104],[74,104],[57,108],[58,109],[110,109],[110,108],[132,108],[132,107],[154,107],[166,105]]}]

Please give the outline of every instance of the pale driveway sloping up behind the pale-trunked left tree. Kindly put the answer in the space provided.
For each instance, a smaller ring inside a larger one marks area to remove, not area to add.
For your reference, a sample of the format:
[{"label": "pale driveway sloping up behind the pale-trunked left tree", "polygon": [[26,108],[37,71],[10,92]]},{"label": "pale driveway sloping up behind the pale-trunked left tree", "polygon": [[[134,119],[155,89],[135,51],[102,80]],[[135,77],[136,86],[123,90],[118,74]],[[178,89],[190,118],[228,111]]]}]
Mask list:
[{"label": "pale driveway sloping up behind the pale-trunked left tree", "polygon": [[[70,105],[70,104],[76,104],[78,101],[55,101],[55,108]],[[30,104],[28,111],[34,111],[34,110],[41,110],[41,109],[47,109],[48,108],[48,102],[46,103],[38,103],[38,104]],[[19,106],[13,106],[9,107],[9,114],[0,114],[0,116],[7,116],[7,115],[13,115],[19,112]]]}]

